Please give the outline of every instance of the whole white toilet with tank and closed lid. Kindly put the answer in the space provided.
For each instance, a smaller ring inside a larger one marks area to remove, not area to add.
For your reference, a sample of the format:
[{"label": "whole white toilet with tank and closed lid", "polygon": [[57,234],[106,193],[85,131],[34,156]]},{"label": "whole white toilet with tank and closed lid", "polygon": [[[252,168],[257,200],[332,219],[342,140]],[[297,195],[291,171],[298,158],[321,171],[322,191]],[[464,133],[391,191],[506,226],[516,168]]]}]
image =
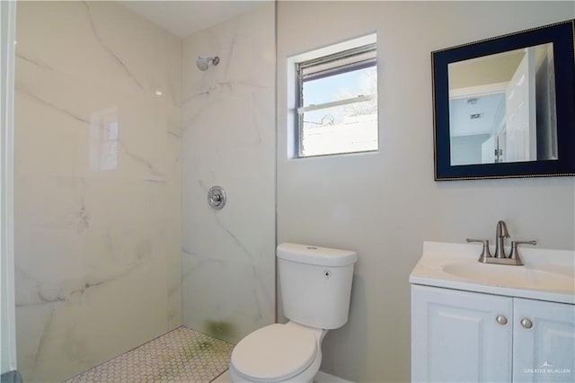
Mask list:
[{"label": "whole white toilet with tank and closed lid", "polygon": [[234,347],[233,382],[312,382],[322,364],[328,330],[345,325],[356,252],[327,247],[278,246],[285,325],[267,325]]}]

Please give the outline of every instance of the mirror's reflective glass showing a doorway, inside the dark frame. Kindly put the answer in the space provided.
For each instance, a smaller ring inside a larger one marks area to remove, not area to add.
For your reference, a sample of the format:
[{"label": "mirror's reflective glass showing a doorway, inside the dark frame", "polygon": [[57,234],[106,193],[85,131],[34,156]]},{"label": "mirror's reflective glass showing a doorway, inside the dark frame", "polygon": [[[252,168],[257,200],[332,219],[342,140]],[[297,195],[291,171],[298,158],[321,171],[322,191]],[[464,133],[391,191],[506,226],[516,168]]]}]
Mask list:
[{"label": "mirror's reflective glass showing a doorway, inside the dark frame", "polygon": [[553,44],[449,64],[451,165],[557,159]]}]

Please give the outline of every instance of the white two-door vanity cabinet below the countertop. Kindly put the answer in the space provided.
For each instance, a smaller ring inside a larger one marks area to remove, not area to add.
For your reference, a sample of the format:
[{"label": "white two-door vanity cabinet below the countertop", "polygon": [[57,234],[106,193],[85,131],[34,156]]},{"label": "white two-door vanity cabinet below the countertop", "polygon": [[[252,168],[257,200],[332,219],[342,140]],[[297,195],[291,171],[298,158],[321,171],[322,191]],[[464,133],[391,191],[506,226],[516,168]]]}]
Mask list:
[{"label": "white two-door vanity cabinet below the countertop", "polygon": [[575,381],[575,306],[413,284],[411,380]]}]

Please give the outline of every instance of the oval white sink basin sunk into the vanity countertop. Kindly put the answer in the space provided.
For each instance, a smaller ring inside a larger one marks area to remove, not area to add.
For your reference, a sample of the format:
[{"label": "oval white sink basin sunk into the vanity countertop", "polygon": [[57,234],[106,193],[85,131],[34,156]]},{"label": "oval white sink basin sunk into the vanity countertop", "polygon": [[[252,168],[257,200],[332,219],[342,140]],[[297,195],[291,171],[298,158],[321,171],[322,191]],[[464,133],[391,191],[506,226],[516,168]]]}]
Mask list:
[{"label": "oval white sink basin sunk into the vanity countertop", "polygon": [[517,289],[548,291],[573,291],[573,275],[569,269],[542,270],[526,266],[509,266],[489,263],[453,263],[443,266],[443,271],[475,283]]}]

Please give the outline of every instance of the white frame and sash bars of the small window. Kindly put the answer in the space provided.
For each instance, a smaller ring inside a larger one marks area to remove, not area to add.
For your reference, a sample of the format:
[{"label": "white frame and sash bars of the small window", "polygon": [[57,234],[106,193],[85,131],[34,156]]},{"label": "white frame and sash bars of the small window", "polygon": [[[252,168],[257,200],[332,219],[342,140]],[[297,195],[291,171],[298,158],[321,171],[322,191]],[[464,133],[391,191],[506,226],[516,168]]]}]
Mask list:
[{"label": "white frame and sash bars of the small window", "polygon": [[[368,48],[367,48],[368,47]],[[324,109],[326,107],[345,105],[358,101],[367,101],[375,97],[375,95],[358,96],[349,98],[346,100],[339,100],[335,102],[325,102],[317,105],[300,106],[301,102],[301,92],[302,92],[302,78],[299,76],[300,68],[303,66],[311,67],[317,64],[317,62],[329,63],[330,60],[335,60],[338,58],[344,58],[346,55],[353,58],[357,56],[358,53],[364,52],[366,50],[376,50],[376,34],[370,34],[367,36],[362,36],[357,39],[347,40],[338,44],[331,45],[329,47],[324,47],[322,49],[315,49],[313,51],[305,52],[303,54],[288,58],[288,158],[309,158],[314,156],[300,156],[301,150],[301,126],[303,122],[300,116],[303,115],[305,111],[314,111],[319,109]],[[360,66],[357,61],[361,58],[356,59],[356,61],[351,61],[349,64],[351,67]],[[376,61],[376,58],[374,58]],[[337,67],[334,71],[337,71]],[[374,149],[373,151],[376,151]],[[372,150],[370,150],[372,151]],[[330,153],[320,156],[337,156],[345,155],[352,152],[341,152],[341,153]],[[366,153],[366,152],[361,152]]]}]

